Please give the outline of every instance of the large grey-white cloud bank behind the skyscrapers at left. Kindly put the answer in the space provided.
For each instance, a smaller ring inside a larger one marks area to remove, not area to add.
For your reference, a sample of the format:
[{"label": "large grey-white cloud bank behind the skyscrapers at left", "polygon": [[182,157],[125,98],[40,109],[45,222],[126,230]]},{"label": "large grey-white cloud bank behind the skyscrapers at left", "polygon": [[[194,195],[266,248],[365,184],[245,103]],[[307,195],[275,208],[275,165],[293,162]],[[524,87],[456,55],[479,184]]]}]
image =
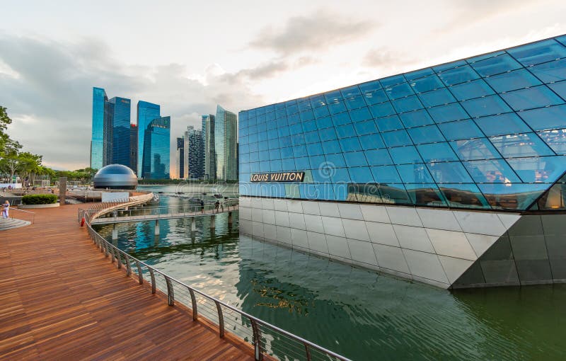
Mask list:
[{"label": "large grey-white cloud bank behind the skyscrapers at left", "polygon": [[42,154],[45,164],[62,169],[88,166],[93,86],[105,88],[110,98],[132,99],[132,122],[138,100],[161,104],[161,114],[171,115],[173,125],[173,173],[180,132],[187,125],[200,127],[198,115],[214,113],[217,103],[235,113],[264,103],[244,80],[269,73],[258,69],[228,79],[215,67],[189,77],[181,64],[132,66],[113,59],[105,42],[91,38],[54,42],[1,34],[0,49],[0,105],[14,120],[9,134],[25,150]]}]

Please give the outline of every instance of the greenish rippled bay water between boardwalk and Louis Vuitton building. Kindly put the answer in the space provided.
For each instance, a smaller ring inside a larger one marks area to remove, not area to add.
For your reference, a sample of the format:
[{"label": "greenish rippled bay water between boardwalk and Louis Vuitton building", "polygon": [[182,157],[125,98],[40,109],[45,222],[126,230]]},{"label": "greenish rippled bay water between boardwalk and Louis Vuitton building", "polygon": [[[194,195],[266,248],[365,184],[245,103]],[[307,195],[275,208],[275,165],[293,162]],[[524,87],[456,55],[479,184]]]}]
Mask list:
[{"label": "greenish rippled bay water between boardwalk and Louis Vuitton building", "polygon": [[[147,188],[146,188],[147,189]],[[174,186],[160,203],[184,205]],[[224,190],[224,195],[227,195]],[[448,292],[238,234],[226,214],[120,224],[133,256],[354,360],[565,360],[566,285]],[[111,227],[99,227],[111,238]]]}]

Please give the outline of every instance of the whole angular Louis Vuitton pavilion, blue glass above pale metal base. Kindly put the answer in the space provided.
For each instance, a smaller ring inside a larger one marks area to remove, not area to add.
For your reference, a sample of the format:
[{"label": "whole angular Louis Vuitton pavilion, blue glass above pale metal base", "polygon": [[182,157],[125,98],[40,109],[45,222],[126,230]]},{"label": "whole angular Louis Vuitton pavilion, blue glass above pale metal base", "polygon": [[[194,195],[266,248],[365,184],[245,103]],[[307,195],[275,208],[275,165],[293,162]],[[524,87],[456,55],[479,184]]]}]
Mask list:
[{"label": "whole angular Louis Vuitton pavilion, blue glass above pale metal base", "polygon": [[566,35],[239,118],[244,234],[444,288],[566,281]]}]

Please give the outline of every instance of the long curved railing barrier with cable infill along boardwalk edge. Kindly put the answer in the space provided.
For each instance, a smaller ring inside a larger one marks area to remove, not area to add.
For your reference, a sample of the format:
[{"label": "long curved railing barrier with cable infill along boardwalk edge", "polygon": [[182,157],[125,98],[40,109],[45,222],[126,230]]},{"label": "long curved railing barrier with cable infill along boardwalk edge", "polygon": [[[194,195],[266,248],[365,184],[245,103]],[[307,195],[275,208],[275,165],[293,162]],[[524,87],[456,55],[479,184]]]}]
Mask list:
[{"label": "long curved railing barrier with cable infill along boardwalk edge", "polygon": [[[93,210],[79,210],[79,220],[85,220],[88,234],[93,243],[100,249],[100,252],[105,253],[105,256],[110,258],[112,264],[116,263],[118,269],[125,269],[128,277],[134,277],[140,285],[144,285],[144,283],[151,285],[151,293],[153,294],[158,291],[166,294],[169,306],[174,306],[175,302],[186,306],[192,312],[193,321],[202,317],[206,323],[212,323],[218,329],[220,338],[224,338],[226,333],[231,333],[231,335],[250,343],[253,346],[255,360],[275,358],[280,360],[350,361],[346,357],[284,331],[282,328],[262,321],[216,299],[216,297],[197,290],[195,287],[161,272],[106,241],[93,229],[93,219],[108,212],[132,206],[131,198],[129,197],[128,200],[121,203],[99,204],[93,207]],[[137,204],[141,204],[141,198],[137,202]]]}]

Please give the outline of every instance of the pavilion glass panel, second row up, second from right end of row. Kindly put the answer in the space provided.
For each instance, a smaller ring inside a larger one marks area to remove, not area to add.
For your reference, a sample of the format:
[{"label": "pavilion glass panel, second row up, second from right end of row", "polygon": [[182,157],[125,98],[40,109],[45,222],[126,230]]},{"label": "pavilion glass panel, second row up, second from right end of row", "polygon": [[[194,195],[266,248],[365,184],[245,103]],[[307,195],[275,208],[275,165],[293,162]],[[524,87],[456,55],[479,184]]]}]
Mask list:
[{"label": "pavilion glass panel, second row up, second from right end of row", "polygon": [[521,183],[519,177],[503,159],[465,161],[463,164],[475,183]]}]

